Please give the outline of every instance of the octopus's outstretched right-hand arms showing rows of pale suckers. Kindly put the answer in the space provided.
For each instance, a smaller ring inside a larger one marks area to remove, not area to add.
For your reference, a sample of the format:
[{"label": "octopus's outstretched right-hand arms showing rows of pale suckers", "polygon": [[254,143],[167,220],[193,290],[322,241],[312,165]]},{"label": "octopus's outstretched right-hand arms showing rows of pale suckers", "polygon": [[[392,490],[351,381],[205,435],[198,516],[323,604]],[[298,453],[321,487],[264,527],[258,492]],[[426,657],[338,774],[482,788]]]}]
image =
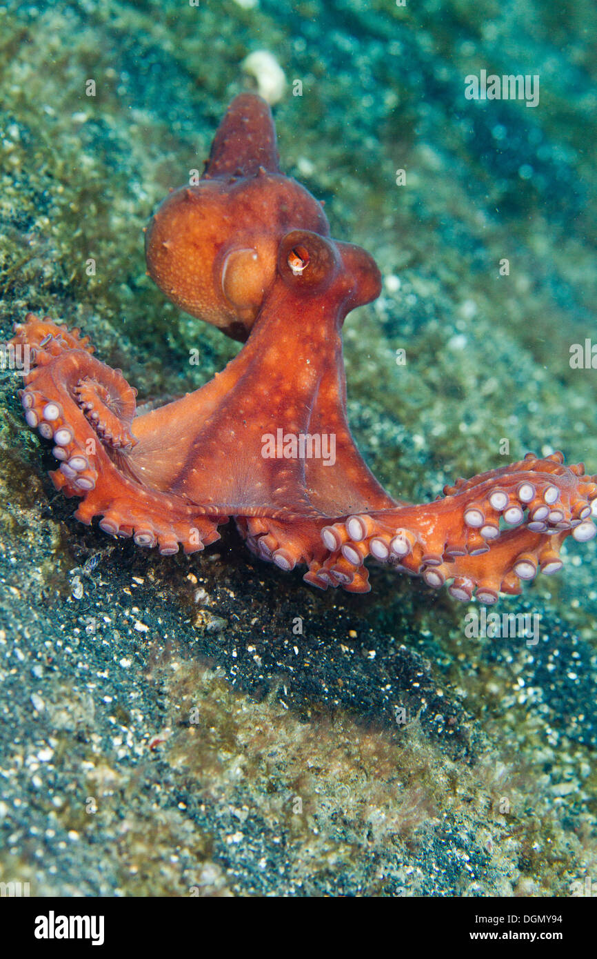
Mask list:
[{"label": "octopus's outstretched right-hand arms showing rows of pale suckers", "polygon": [[597,533],[590,519],[597,477],[582,464],[566,467],[561,453],[525,459],[446,487],[448,496],[417,506],[353,515],[324,526],[322,540],[354,564],[368,556],[420,574],[439,588],[484,602],[517,593],[520,580],[562,568],[559,550],[572,535]]}]

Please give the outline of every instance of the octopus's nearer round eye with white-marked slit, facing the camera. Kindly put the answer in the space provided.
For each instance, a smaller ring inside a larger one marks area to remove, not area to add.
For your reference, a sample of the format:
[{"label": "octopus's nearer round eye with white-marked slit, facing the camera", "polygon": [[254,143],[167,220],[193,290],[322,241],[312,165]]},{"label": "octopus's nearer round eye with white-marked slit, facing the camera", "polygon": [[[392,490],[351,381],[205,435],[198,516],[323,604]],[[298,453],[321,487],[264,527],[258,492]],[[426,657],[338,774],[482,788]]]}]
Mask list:
[{"label": "octopus's nearer round eye with white-marked slit, facing the camera", "polygon": [[333,244],[310,230],[292,230],[280,244],[278,269],[293,289],[324,290],[336,275],[338,265]]}]

